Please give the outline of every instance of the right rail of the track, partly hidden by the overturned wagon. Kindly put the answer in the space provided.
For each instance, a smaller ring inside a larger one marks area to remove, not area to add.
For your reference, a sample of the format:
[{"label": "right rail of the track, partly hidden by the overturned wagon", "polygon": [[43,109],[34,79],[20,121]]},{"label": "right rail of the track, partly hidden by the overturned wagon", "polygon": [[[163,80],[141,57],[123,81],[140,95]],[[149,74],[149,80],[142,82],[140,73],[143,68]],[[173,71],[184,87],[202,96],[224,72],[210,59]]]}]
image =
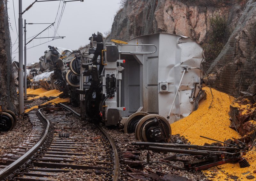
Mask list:
[{"label": "right rail of the track, partly hidden by the overturned wagon", "polygon": [[[62,103],[59,103],[59,105],[61,107],[63,107],[64,109],[68,110],[68,111],[71,111],[73,112],[74,114],[76,114],[77,116],[81,117],[81,115],[74,111],[73,109],[71,109],[70,107],[68,107],[67,105],[64,105]],[[111,136],[102,128],[100,127],[99,125],[96,125],[100,131],[107,137],[108,141],[110,142],[111,144],[111,147],[113,149],[113,152],[114,152],[114,158],[115,158],[115,165],[114,165],[114,173],[113,173],[113,181],[118,181],[118,177],[119,177],[119,157],[118,157],[118,151],[117,151],[117,148],[116,148],[116,145],[115,145],[115,142],[113,141],[113,139],[111,138]]]}]

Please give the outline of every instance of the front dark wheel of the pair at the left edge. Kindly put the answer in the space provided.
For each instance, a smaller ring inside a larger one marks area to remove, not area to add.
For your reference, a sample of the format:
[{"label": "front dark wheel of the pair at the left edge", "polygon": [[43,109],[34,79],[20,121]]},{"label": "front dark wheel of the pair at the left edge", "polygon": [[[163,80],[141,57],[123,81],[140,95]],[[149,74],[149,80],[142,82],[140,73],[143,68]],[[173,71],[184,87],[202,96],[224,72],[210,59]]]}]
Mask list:
[{"label": "front dark wheel of the pair at the left edge", "polygon": [[0,112],[0,131],[11,131],[13,126],[12,115],[7,112]]}]

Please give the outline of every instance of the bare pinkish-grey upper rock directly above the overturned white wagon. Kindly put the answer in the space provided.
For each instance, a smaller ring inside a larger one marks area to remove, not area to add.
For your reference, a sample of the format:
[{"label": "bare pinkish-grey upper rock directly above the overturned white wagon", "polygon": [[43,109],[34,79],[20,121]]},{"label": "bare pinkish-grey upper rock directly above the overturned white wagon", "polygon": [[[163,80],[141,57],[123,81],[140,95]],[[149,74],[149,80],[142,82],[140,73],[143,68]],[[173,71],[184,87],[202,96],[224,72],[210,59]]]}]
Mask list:
[{"label": "bare pinkish-grey upper rock directly above the overturned white wagon", "polygon": [[[202,44],[211,31],[212,17],[227,16],[228,26],[234,28],[243,4],[243,0],[237,3],[230,0],[127,0],[117,12],[107,40],[125,41],[144,34],[166,32],[192,37]],[[228,17],[228,13],[233,17]]]}]

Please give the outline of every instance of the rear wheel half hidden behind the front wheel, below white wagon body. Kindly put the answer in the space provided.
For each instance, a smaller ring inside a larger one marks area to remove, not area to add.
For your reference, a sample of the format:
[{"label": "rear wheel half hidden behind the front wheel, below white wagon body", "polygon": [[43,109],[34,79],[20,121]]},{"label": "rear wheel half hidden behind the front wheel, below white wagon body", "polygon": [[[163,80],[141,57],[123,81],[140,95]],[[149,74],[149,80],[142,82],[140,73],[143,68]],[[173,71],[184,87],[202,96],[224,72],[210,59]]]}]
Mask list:
[{"label": "rear wheel half hidden behind the front wheel, below white wagon body", "polygon": [[147,116],[147,112],[135,112],[126,120],[124,124],[124,133],[135,133],[135,128],[141,118]]}]

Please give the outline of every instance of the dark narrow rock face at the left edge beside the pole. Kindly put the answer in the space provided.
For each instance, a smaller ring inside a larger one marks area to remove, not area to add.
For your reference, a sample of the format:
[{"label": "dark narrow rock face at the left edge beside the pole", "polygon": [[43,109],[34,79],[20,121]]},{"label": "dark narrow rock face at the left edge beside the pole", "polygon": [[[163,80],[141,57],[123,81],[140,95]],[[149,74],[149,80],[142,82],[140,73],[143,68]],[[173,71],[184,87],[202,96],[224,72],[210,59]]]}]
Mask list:
[{"label": "dark narrow rock face at the left edge beside the pole", "polygon": [[7,0],[0,0],[0,105],[17,112],[17,93],[12,76],[11,38]]}]

